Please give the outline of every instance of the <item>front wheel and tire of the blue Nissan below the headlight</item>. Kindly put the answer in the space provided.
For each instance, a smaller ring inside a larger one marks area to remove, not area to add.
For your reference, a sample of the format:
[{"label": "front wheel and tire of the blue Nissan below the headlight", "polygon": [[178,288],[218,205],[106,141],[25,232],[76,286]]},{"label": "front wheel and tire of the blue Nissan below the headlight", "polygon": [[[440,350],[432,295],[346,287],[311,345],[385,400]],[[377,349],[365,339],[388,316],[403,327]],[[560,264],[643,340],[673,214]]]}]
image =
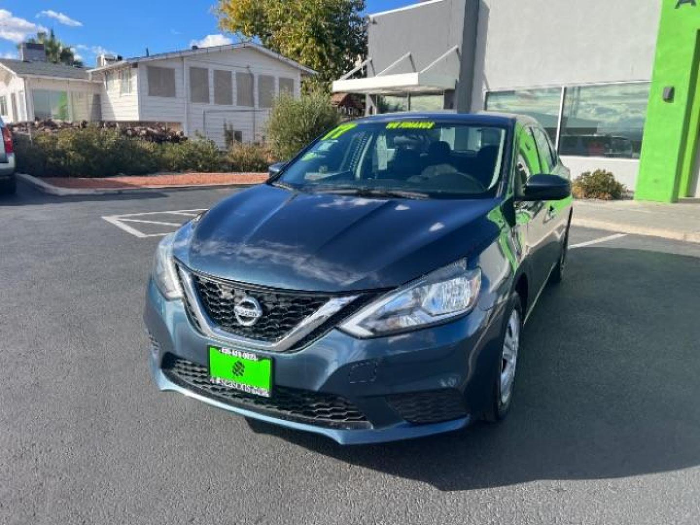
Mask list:
[{"label": "front wheel and tire of the blue Nissan below the headlight", "polygon": [[505,418],[513,400],[517,374],[520,335],[523,326],[520,296],[513,293],[506,309],[503,335],[500,338],[500,353],[496,363],[496,380],[493,381],[493,394],[489,410],[484,419],[497,423]]}]

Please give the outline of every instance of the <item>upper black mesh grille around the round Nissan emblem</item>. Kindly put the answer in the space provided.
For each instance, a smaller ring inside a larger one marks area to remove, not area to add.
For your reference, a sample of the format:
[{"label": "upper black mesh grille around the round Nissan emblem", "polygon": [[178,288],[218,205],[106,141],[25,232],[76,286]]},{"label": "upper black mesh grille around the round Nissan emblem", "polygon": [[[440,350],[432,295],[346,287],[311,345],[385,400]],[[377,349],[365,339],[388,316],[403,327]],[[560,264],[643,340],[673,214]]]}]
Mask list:
[{"label": "upper black mesh grille around the round Nissan emblem", "polygon": [[[328,295],[255,288],[194,273],[192,277],[209,318],[221,330],[256,341],[279,342],[330,300]],[[246,296],[258,300],[262,308],[262,316],[252,326],[241,325],[233,311]]]}]

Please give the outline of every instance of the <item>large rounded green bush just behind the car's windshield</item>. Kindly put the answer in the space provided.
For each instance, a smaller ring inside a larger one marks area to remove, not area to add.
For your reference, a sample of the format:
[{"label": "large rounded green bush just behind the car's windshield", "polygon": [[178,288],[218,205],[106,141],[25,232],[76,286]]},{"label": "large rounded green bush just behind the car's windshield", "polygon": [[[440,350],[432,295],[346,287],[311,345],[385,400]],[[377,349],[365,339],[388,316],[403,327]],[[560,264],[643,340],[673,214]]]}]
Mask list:
[{"label": "large rounded green bush just behind the car's windshield", "polygon": [[340,120],[328,94],[311,92],[300,99],[283,95],[276,99],[267,120],[267,138],[272,154],[278,159],[289,160],[322,132],[338,125]]}]

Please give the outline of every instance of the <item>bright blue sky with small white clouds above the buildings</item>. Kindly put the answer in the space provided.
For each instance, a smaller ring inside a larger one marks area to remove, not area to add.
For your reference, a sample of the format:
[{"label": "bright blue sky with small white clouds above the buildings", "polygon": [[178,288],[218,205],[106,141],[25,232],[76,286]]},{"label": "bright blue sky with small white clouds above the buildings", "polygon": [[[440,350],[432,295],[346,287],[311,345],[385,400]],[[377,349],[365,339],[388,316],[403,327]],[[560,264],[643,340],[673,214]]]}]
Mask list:
[{"label": "bright blue sky with small white clouds above the buildings", "polygon": [[[417,0],[367,0],[367,13],[407,6]],[[105,4],[109,8],[104,8]],[[211,14],[213,0],[2,0],[0,3],[0,57],[14,58],[16,44],[53,28],[74,46],[86,64],[99,52],[125,57],[185,49],[191,43],[226,43]],[[207,38],[209,37],[209,38]]]}]

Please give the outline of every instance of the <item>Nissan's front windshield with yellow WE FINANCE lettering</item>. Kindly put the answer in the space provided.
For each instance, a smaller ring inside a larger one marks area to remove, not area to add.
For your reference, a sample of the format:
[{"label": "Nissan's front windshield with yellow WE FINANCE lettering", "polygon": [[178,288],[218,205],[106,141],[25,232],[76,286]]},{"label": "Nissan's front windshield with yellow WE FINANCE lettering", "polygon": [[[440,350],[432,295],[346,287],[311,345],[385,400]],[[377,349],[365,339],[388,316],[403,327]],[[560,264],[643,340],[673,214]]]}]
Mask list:
[{"label": "Nissan's front windshield with yellow WE FINANCE lettering", "polygon": [[286,167],[279,186],[314,193],[489,197],[505,129],[427,120],[344,123]]}]

